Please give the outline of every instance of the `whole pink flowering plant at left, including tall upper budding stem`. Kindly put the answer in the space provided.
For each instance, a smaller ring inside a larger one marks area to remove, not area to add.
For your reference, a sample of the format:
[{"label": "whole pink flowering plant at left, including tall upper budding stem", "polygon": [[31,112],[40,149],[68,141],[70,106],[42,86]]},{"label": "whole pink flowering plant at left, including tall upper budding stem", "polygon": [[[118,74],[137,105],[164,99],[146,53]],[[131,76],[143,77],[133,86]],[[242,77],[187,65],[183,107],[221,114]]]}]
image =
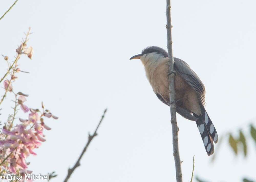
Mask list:
[{"label": "whole pink flowering plant at left, including tall upper budding stem", "polygon": [[[45,118],[58,119],[58,117],[54,116],[45,108],[43,103],[41,103],[41,109],[28,107],[26,105],[28,95],[22,92],[15,92],[16,88],[13,85],[18,79],[17,75],[23,72],[28,73],[18,67],[20,66],[18,65],[18,61],[22,55],[26,55],[30,59],[32,59],[33,56],[33,48],[27,46],[29,35],[30,28],[26,34],[26,38],[16,49],[16,57],[13,62],[9,62],[8,56],[3,55],[4,61],[7,62],[8,69],[0,80],[0,84],[4,88],[4,94],[0,100],[0,107],[3,106],[1,105],[3,101],[12,101],[14,105],[12,107],[12,114],[8,115],[6,122],[2,125],[3,127],[0,128],[1,179],[8,179],[8,175],[25,177],[32,173],[32,171],[28,170],[29,162],[26,160],[28,156],[36,155],[35,149],[41,146],[41,142],[46,141],[44,130],[50,130],[51,128],[47,126],[48,124],[45,124]],[[7,95],[10,95],[10,100],[6,99]],[[27,117],[19,118],[18,120],[18,110],[22,110],[26,113]],[[5,109],[0,108],[0,112],[3,114]],[[6,114],[7,113],[0,115],[4,117],[7,116]],[[11,181],[13,181],[13,179]]]}]

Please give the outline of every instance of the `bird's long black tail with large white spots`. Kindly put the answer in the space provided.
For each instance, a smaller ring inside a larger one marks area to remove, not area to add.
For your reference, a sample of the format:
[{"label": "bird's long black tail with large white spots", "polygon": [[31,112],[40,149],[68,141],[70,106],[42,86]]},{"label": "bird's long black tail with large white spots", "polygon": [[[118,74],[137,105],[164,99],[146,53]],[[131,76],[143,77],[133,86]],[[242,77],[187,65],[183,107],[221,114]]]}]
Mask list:
[{"label": "bird's long black tail with large white spots", "polygon": [[214,146],[212,141],[214,141],[215,143],[218,142],[218,134],[210,117],[205,111],[204,106],[202,105],[201,113],[202,114],[200,116],[196,115],[195,113],[193,113],[193,115],[198,118],[198,120],[196,121],[197,128],[201,134],[205,150],[209,156],[214,153]]}]

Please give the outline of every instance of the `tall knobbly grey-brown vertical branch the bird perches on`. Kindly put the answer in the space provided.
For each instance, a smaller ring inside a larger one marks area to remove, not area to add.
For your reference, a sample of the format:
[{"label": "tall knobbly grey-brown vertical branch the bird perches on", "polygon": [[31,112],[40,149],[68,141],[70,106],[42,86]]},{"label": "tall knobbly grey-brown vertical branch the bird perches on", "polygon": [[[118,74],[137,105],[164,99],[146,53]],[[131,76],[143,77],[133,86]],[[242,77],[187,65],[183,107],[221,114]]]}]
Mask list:
[{"label": "tall knobbly grey-brown vertical branch the bird perches on", "polygon": [[166,30],[167,30],[167,49],[168,49],[168,64],[169,64],[169,97],[170,97],[170,114],[173,132],[173,156],[176,168],[176,181],[182,182],[181,162],[179,157],[178,145],[178,125],[176,120],[176,103],[174,90],[174,59],[172,48],[172,22],[171,22],[171,1],[166,0]]}]

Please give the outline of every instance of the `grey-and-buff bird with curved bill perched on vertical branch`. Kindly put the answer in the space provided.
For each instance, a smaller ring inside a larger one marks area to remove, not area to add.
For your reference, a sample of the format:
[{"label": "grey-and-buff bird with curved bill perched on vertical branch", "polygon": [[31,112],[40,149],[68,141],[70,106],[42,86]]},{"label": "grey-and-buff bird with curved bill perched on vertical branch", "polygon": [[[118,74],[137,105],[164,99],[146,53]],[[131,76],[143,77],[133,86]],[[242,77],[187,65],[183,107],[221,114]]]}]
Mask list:
[{"label": "grey-and-buff bird with curved bill perched on vertical branch", "polygon": [[[141,60],[157,98],[170,106],[168,53],[161,47],[150,46],[131,59]],[[213,142],[218,142],[218,134],[205,110],[205,86],[182,59],[174,57],[174,71],[176,112],[196,122],[207,155],[210,156],[214,153]]]}]

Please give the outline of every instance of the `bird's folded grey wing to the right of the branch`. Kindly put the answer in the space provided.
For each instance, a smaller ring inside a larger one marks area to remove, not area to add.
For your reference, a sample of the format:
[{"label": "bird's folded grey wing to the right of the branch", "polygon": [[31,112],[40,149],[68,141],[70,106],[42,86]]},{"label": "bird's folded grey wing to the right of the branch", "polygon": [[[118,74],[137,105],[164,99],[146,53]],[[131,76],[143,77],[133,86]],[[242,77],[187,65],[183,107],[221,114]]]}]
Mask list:
[{"label": "bird's folded grey wing to the right of the branch", "polygon": [[196,91],[201,103],[205,104],[205,86],[197,74],[183,60],[174,57],[174,69]]}]

